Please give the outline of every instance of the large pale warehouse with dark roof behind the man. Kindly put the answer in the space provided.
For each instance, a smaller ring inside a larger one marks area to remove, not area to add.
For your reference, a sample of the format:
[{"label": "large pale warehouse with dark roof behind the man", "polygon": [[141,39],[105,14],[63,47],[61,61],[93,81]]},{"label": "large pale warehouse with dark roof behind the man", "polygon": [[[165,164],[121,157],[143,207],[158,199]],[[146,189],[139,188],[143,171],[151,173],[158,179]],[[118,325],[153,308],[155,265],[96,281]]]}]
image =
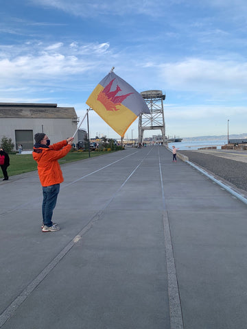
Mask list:
[{"label": "large pale warehouse with dark roof behind the man", "polygon": [[[59,108],[57,104],[0,103],[0,139],[11,138],[16,150],[32,149],[36,132],[44,132],[57,143],[73,136],[78,117],[74,108]],[[75,144],[77,143],[75,135]]]}]

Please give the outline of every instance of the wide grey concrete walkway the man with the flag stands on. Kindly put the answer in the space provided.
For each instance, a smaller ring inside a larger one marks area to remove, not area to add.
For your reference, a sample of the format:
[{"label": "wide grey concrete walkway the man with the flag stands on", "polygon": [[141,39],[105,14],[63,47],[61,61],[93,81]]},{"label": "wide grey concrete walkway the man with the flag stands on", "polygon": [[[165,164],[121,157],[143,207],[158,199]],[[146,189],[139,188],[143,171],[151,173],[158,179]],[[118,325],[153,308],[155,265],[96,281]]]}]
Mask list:
[{"label": "wide grey concrete walkway the man with the flag stands on", "polygon": [[165,147],[62,171],[59,232],[37,172],[0,182],[0,328],[246,328],[245,204]]}]

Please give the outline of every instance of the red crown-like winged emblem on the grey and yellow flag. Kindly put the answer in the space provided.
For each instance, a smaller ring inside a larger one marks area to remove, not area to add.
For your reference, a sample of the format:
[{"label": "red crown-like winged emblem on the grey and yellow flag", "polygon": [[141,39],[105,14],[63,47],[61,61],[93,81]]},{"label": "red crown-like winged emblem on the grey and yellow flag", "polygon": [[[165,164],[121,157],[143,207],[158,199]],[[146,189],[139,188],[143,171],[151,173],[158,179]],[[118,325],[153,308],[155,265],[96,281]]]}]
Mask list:
[{"label": "red crown-like winged emblem on the grey and yellow flag", "polygon": [[129,97],[133,93],[129,93],[126,95],[117,96],[117,93],[121,91],[121,88],[117,84],[116,90],[110,91],[111,86],[113,85],[113,81],[111,80],[108,85],[99,93],[97,96],[97,100],[100,101],[108,111],[118,111],[119,108],[117,106],[121,106],[121,102],[124,101],[127,97]]}]

